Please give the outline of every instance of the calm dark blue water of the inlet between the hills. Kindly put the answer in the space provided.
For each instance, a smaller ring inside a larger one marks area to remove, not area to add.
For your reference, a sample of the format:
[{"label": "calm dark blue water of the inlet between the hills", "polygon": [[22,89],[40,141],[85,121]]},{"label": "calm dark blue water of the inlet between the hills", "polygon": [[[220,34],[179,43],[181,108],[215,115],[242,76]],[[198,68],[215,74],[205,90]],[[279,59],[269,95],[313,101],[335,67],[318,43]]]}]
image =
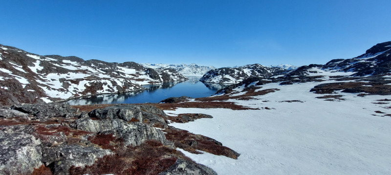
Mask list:
[{"label": "calm dark blue water of the inlet between the hills", "polygon": [[188,96],[193,98],[208,97],[217,90],[228,85],[203,84],[201,77],[189,77],[184,82],[169,82],[162,85],[146,85],[144,91],[136,91],[122,94],[105,94],[74,99],[65,103],[69,105],[92,105],[92,104],[134,104],[134,103],[158,103],[169,97]]}]

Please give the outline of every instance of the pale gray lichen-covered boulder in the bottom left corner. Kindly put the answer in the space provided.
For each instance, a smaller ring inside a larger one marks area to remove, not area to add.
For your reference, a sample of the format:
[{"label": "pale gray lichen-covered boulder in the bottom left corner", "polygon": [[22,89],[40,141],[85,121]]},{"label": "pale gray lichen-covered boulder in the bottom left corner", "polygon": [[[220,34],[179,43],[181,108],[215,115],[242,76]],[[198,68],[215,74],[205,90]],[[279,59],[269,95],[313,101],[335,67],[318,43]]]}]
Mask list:
[{"label": "pale gray lichen-covered boulder in the bottom left corner", "polygon": [[42,165],[41,141],[31,134],[12,131],[0,130],[0,174],[31,174]]}]

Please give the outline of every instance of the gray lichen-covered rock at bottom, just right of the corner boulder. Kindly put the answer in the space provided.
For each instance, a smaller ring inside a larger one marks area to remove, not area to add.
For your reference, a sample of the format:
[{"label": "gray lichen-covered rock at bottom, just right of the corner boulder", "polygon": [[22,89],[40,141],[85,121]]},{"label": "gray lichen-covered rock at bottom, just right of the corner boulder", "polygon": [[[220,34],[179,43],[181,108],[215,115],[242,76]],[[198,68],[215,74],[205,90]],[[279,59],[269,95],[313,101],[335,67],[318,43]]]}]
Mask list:
[{"label": "gray lichen-covered rock at bottom, just right of the corner boulder", "polygon": [[42,162],[49,166],[55,175],[68,175],[71,166],[84,167],[92,165],[97,158],[110,155],[110,150],[81,145],[59,145],[43,147]]}]

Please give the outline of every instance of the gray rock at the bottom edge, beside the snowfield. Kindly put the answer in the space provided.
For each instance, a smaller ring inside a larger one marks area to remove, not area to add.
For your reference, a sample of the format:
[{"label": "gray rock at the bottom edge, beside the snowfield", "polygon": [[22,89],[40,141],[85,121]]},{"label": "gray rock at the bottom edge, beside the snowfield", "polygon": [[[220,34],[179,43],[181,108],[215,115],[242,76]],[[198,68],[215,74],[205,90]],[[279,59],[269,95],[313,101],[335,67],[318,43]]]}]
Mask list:
[{"label": "gray rock at the bottom edge, beside the snowfield", "polygon": [[209,167],[184,159],[177,159],[166,171],[159,175],[217,175]]}]

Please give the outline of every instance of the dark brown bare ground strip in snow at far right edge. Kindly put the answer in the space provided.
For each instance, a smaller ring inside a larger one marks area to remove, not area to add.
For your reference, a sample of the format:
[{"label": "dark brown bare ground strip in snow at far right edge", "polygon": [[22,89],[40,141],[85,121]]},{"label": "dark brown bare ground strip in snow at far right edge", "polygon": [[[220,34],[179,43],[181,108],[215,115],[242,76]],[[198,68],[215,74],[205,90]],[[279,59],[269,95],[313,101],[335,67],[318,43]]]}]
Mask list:
[{"label": "dark brown bare ground strip in snow at far right edge", "polygon": [[[340,82],[325,83],[315,86],[310,90],[317,94],[331,94],[336,90],[342,90],[347,93],[361,93],[364,95],[391,95],[391,86],[384,82]],[[362,93],[364,92],[364,93]],[[366,94],[365,94],[366,93]]]}]

